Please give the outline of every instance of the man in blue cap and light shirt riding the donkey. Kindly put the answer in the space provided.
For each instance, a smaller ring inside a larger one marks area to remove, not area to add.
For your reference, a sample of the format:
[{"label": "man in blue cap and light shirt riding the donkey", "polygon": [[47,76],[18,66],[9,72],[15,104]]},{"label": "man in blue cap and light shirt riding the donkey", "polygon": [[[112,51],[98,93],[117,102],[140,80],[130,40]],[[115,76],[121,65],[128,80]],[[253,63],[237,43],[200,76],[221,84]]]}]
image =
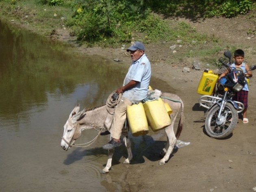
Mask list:
[{"label": "man in blue cap and light shirt riding the donkey", "polygon": [[[103,149],[113,149],[122,145],[120,136],[126,121],[127,106],[143,101],[148,95],[151,67],[150,61],[145,55],[145,47],[143,43],[136,41],[126,51],[130,52],[132,63],[123,86],[116,90],[116,93],[118,95],[122,93],[122,96],[113,114],[113,124],[110,129],[112,139],[103,146]],[[101,135],[110,134],[110,132],[102,132]]]}]

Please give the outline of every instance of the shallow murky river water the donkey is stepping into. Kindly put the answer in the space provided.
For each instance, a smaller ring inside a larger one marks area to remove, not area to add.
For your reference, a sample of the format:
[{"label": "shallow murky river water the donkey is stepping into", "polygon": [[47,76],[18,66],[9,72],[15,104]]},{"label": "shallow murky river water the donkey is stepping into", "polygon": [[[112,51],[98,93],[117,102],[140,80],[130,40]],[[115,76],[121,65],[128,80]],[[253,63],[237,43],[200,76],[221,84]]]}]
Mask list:
[{"label": "shallow murky river water the donkey is stepping into", "polygon": [[[87,149],[63,151],[60,143],[74,106],[105,104],[128,65],[76,53],[1,21],[0,53],[0,191],[122,191],[101,173],[107,136]],[[96,134],[89,130],[77,143]],[[135,145],[144,140],[134,139]]]}]

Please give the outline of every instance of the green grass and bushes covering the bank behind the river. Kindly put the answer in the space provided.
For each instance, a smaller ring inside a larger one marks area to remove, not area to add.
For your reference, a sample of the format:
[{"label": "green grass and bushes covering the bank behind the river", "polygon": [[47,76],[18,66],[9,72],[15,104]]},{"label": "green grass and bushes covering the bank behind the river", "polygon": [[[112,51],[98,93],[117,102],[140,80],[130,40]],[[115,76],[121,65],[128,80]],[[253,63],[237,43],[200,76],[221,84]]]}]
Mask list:
[{"label": "green grass and bushes covering the bank behind the river", "polygon": [[[204,47],[196,54],[223,50],[219,40],[168,18],[235,17],[256,10],[253,0],[0,0],[0,16],[18,20],[46,36],[67,28],[85,46],[120,47],[131,41],[173,42]],[[248,28],[248,34],[256,32]],[[207,46],[206,43],[211,43]],[[180,57],[190,57],[184,52]],[[179,57],[179,56],[177,56]],[[180,58],[178,58],[180,59]]]}]

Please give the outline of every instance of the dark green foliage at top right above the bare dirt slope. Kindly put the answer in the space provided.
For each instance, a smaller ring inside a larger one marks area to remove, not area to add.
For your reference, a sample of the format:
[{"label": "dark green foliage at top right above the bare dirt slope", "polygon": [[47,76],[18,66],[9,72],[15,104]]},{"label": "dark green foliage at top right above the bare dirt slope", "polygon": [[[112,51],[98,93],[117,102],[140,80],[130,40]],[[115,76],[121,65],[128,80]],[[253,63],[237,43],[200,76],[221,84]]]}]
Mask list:
[{"label": "dark green foliage at top right above the bare dirt slope", "polygon": [[145,0],[155,12],[168,16],[234,17],[252,10],[253,0]]}]

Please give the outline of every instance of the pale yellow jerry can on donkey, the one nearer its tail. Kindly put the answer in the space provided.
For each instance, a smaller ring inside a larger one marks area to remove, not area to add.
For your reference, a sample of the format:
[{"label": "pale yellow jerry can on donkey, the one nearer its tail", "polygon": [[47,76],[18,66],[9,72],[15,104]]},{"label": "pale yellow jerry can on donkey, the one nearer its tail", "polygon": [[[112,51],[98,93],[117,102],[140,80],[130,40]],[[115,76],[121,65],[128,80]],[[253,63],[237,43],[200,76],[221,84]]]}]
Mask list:
[{"label": "pale yellow jerry can on donkey, the one nearer its tail", "polygon": [[154,101],[146,101],[143,106],[148,123],[154,132],[171,125],[170,116],[161,98]]}]

